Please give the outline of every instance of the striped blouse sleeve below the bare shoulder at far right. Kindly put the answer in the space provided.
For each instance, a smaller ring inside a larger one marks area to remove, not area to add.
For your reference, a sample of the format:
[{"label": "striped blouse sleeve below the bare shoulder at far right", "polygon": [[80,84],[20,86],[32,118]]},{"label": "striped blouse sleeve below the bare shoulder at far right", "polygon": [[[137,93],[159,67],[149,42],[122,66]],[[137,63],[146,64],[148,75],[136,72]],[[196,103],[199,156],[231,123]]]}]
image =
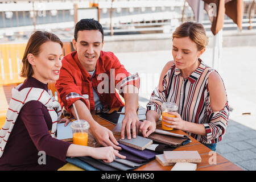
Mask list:
[{"label": "striped blouse sleeve below the bare shoulder at far right", "polygon": [[209,122],[204,123],[206,135],[203,136],[203,140],[207,143],[217,143],[222,140],[226,132],[226,127],[228,126],[229,121],[229,105],[228,105],[228,96],[226,96],[227,101],[224,109],[220,111],[212,111],[210,109],[210,97],[209,90],[206,99],[207,112],[209,117]]}]

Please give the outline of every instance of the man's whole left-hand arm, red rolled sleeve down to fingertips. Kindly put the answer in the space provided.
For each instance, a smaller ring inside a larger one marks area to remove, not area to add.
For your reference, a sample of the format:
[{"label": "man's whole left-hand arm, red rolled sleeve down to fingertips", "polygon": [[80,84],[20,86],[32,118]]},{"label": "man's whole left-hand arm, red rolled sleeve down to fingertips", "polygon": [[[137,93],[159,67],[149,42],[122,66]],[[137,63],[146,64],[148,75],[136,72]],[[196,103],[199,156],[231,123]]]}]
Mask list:
[{"label": "man's whole left-hand arm, red rolled sleeve down to fingertips", "polygon": [[[76,75],[76,72],[72,73],[71,68],[72,65],[64,60],[63,67],[60,69],[60,78],[56,81],[55,85],[65,109],[67,109],[70,114],[76,115],[75,110],[73,109],[73,104],[75,104],[79,118],[89,122],[89,130],[96,138],[97,142],[102,146],[112,146],[117,150],[121,150],[121,147],[116,146],[118,143],[117,140],[115,140],[112,131],[101,126],[93,119],[86,106],[86,101],[84,97],[82,97],[81,86],[75,82],[75,77],[79,78],[79,75]],[[79,79],[77,80],[80,82]]]}]

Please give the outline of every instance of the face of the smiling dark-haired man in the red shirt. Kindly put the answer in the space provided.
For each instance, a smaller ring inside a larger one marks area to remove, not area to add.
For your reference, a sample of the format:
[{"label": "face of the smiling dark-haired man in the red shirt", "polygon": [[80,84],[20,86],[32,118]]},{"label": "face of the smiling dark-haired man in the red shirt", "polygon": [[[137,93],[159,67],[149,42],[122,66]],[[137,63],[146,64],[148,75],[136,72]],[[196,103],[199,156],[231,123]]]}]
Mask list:
[{"label": "face of the smiling dark-haired man in the red shirt", "polygon": [[86,71],[93,71],[104,45],[101,32],[98,30],[78,31],[77,42],[75,39],[72,42],[82,66]]}]

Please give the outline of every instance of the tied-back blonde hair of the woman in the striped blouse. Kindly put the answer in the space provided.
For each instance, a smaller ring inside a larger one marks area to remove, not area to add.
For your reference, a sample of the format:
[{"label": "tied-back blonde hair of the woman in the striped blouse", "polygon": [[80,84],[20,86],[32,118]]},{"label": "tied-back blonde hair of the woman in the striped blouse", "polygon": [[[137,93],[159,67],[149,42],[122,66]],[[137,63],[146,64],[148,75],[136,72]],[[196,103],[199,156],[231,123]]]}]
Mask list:
[{"label": "tied-back blonde hair of the woman in the striped blouse", "polygon": [[174,40],[174,38],[185,37],[189,37],[193,42],[195,42],[199,51],[207,47],[208,37],[204,26],[201,23],[185,22],[177,27],[172,34],[172,40]]}]

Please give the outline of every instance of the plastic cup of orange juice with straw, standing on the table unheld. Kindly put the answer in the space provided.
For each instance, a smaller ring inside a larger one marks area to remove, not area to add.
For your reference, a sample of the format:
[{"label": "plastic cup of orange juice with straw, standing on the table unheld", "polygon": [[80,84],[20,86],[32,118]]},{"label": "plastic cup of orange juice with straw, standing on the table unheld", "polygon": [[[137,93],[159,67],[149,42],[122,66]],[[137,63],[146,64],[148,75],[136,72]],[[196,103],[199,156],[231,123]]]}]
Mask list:
[{"label": "plastic cup of orange juice with straw, standing on the table unheld", "polygon": [[90,125],[83,119],[77,119],[71,123],[73,144],[88,146],[88,129]]}]

